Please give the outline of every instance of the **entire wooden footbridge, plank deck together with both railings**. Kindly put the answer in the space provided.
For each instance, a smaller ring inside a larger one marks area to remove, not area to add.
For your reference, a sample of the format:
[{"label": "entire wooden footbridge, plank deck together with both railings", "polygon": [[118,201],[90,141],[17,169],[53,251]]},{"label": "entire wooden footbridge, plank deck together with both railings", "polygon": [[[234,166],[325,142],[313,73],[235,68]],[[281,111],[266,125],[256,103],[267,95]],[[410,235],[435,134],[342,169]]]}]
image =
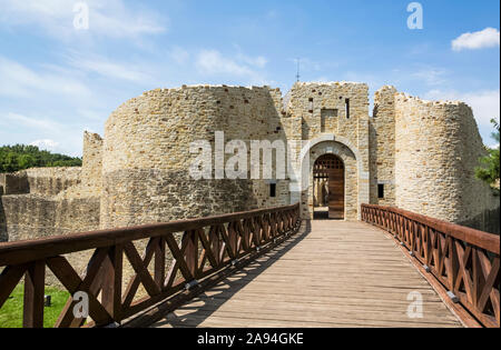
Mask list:
[{"label": "entire wooden footbridge, plank deck together with both railings", "polygon": [[[2,243],[0,308],[24,277],[23,324],[41,327],[48,268],[88,296],[88,318],[70,298],[56,327],[499,327],[498,236],[376,206],[362,219],[301,222],[296,204]],[[80,277],[67,254],[85,250]]]}]

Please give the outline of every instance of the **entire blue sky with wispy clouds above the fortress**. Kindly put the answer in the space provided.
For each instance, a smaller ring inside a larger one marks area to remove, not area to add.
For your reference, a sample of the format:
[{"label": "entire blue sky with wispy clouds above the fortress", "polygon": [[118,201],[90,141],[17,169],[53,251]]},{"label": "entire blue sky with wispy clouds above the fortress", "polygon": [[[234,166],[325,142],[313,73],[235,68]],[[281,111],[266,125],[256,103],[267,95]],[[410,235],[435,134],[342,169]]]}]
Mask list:
[{"label": "entire blue sky with wispy clouds above the fortress", "polygon": [[[73,26],[88,6],[88,29]],[[0,0],[0,144],[81,154],[84,130],[145,90],[303,81],[384,84],[499,118],[498,0]]]}]

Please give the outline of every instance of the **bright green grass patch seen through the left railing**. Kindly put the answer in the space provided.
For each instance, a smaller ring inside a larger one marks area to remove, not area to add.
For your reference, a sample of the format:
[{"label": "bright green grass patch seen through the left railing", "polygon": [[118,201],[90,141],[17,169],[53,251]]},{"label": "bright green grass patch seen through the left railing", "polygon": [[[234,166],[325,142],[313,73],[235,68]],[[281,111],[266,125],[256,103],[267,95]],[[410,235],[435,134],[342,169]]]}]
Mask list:
[{"label": "bright green grass patch seen through the left railing", "polygon": [[[18,284],[0,309],[0,328],[22,328],[23,296],[24,286]],[[51,296],[51,306],[43,308],[43,327],[52,328],[70,294],[57,288],[46,287],[46,296]]]}]

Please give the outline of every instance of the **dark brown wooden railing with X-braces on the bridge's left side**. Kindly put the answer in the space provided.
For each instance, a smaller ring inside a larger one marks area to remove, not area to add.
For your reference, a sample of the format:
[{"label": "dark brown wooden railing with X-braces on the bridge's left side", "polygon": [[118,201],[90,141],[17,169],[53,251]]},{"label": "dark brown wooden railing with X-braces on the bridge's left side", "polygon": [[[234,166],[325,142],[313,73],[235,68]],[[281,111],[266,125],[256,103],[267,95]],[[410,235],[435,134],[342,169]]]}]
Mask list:
[{"label": "dark brown wooden railing with X-braces on the bridge's left side", "polygon": [[[276,239],[297,232],[299,226],[299,206],[296,204],[165,224],[1,243],[0,270],[2,267],[4,269],[0,274],[0,308],[24,277],[23,327],[42,327],[48,267],[70,296],[77,292],[88,296],[88,311],[92,321],[86,326],[120,322],[196,286],[200,279],[271,246]],[[176,239],[179,237],[180,244],[179,239]],[[144,257],[139,256],[134,243],[138,240],[148,241]],[[79,277],[65,254],[87,250],[94,253],[86,273]],[[126,282],[124,257],[135,273],[128,284],[125,283],[127,288],[122,291],[122,282]],[[147,296],[136,301],[141,283]],[[76,318],[73,309],[78,302],[70,297],[55,327],[82,327],[89,321]]]}]

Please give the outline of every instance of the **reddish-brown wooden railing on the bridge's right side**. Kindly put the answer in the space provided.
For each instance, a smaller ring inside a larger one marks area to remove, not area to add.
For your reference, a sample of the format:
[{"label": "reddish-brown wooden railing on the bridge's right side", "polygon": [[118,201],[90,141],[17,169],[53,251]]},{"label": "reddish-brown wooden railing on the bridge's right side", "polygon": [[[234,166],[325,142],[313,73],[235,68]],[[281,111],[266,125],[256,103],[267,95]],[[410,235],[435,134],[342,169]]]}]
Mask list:
[{"label": "reddish-brown wooden railing on the bridge's right side", "polygon": [[[410,211],[362,206],[484,327],[500,327],[500,237]],[[452,292],[452,294],[451,294]]]}]

